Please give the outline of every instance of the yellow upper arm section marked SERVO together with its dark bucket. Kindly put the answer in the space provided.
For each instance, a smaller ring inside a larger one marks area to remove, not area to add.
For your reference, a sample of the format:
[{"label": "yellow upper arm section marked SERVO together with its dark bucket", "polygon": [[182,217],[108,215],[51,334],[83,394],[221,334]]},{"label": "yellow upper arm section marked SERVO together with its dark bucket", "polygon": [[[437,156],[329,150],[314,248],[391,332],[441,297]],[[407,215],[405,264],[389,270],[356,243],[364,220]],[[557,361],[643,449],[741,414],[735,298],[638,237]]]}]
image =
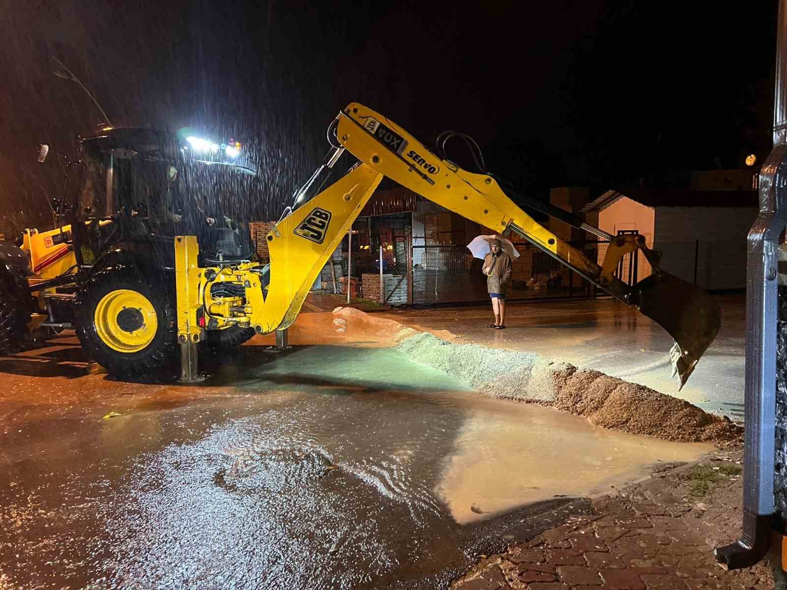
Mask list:
[{"label": "yellow upper arm section marked SERVO together with its dark bucket", "polygon": [[[514,231],[654,319],[674,337],[670,356],[679,387],[716,337],[721,325],[719,305],[695,285],[662,271],[660,256],[648,249],[644,236],[608,236],[610,245],[599,266],[527,215],[492,176],[473,174],[441,160],[407,131],[364,105],[351,103],[339,114],[336,135],[342,147],[375,171],[500,234]],[[578,225],[594,230],[581,222]],[[630,287],[613,273],[624,254],[637,250],[645,255],[653,274]]]}]

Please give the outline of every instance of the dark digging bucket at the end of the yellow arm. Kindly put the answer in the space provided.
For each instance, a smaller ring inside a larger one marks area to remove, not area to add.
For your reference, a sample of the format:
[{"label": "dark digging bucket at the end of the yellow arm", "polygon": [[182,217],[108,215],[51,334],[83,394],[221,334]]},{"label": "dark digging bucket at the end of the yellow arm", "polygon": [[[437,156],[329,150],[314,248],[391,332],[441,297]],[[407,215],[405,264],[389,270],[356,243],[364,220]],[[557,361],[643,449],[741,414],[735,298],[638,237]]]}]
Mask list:
[{"label": "dark digging bucket at the end of the yellow arm", "polygon": [[700,356],[719,333],[722,325],[719,304],[707,291],[663,271],[638,282],[632,292],[638,294],[639,311],[675,340],[670,360],[680,391]]}]

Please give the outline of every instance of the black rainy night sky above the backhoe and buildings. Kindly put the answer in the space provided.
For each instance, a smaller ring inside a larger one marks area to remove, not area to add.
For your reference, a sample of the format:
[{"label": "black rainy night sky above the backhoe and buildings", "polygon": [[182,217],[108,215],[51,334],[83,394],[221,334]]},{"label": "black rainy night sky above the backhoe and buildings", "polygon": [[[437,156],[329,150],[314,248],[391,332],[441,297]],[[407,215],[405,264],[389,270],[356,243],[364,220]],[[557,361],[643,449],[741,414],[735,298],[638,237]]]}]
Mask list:
[{"label": "black rainy night sky above the backhoe and buildings", "polygon": [[428,146],[464,131],[490,171],[542,198],[669,188],[770,151],[775,0],[313,4],[0,0],[0,230],[46,227],[42,195],[61,183],[35,146],[76,154],[104,122],[52,55],[116,127],[244,142],[254,216],[290,201],[349,101]]}]

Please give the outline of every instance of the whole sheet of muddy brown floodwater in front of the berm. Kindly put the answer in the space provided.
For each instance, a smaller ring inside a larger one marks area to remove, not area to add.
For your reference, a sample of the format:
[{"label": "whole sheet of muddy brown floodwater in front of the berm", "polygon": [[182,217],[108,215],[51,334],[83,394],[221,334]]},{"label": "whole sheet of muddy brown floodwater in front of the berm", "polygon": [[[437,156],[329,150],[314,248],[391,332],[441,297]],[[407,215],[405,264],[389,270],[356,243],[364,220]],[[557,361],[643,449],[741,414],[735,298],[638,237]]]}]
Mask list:
[{"label": "whole sheet of muddy brown floodwater in front of the berm", "polygon": [[0,404],[0,588],[440,587],[564,496],[709,450],[490,400],[390,348],[241,351],[194,387],[73,374],[105,397]]}]

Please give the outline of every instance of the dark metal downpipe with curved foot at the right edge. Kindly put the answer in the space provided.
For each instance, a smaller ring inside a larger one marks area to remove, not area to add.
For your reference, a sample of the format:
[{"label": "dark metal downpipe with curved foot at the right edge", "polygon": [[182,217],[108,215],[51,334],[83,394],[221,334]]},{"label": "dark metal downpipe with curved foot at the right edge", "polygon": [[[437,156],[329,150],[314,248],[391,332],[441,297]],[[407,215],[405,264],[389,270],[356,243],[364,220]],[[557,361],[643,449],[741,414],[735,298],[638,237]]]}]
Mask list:
[{"label": "dark metal downpipe with curved foot at the right edge", "polygon": [[[747,238],[743,533],[737,542],[715,550],[716,559],[728,570],[753,566],[765,557],[775,511],[777,250],[787,223],[783,182],[787,174],[787,0],[779,2],[777,31],[774,149],[759,172],[759,215]],[[781,420],[778,427],[785,429]],[[781,440],[778,444],[783,455],[785,444]],[[778,489],[785,493],[782,473]],[[779,565],[774,569],[780,569]]]}]

